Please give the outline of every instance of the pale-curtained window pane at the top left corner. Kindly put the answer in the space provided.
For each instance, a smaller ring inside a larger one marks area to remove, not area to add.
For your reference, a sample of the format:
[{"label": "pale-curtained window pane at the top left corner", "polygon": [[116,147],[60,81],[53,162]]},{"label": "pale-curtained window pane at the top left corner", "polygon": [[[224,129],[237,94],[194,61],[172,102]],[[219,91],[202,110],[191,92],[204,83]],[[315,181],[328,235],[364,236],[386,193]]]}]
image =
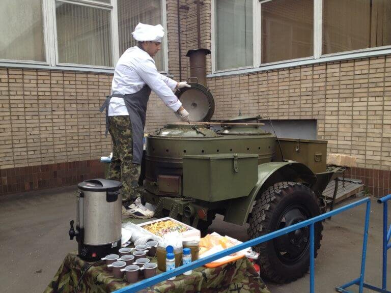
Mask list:
[{"label": "pale-curtained window pane at the top left corner", "polygon": [[46,61],[41,0],[0,1],[0,58]]}]

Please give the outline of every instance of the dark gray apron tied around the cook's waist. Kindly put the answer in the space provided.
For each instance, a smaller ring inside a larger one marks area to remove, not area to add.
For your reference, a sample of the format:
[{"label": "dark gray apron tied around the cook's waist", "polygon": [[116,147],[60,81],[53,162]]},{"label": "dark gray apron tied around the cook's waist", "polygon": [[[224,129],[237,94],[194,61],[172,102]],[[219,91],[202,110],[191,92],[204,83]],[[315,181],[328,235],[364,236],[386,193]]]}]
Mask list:
[{"label": "dark gray apron tied around the cook's waist", "polygon": [[147,104],[151,94],[150,87],[146,84],[137,93],[121,95],[113,94],[106,97],[100,111],[106,110],[106,136],[108,132],[108,105],[113,97],[123,98],[128,109],[130,123],[132,125],[133,160],[134,164],[141,164],[143,158],[143,137],[145,120],[147,116]]}]

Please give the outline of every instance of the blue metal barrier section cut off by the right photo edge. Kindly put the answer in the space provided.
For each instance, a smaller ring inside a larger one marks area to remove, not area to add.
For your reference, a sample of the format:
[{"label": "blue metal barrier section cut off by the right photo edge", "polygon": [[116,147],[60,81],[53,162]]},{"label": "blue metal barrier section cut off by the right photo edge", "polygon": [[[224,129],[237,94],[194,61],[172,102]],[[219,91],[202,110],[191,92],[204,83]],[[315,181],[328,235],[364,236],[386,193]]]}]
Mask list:
[{"label": "blue metal barrier section cut off by the right photo edge", "polygon": [[[336,290],[338,292],[349,293],[350,291],[345,290],[347,287],[350,287],[351,285],[359,284],[360,293],[362,292],[362,287],[369,288],[376,292],[391,293],[391,291],[387,291],[387,250],[391,248],[391,243],[389,243],[389,240],[391,238],[391,225],[388,227],[388,200],[391,200],[391,194],[388,194],[377,200],[378,203],[383,204],[383,266],[382,266],[383,274],[382,274],[381,288],[363,283],[364,281],[364,276],[363,276],[362,278],[360,277],[359,279],[353,280],[347,284],[337,287]],[[364,252],[362,254],[362,257],[365,258]]]}]

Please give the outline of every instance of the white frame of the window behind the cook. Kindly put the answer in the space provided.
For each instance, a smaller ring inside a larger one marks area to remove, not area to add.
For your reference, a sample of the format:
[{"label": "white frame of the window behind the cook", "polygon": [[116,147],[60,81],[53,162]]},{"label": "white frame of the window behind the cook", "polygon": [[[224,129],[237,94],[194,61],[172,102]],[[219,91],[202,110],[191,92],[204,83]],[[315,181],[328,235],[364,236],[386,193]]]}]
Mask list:
[{"label": "white frame of the window behind the cook", "polygon": [[[57,19],[55,16],[55,1],[70,3],[80,6],[105,9],[110,11],[111,25],[111,58],[113,66],[94,66],[85,64],[60,63],[57,41]],[[114,67],[120,58],[119,34],[118,34],[118,6],[117,0],[111,0],[110,3],[99,2],[95,0],[41,0],[43,17],[43,36],[46,61],[24,61],[9,60],[0,58],[1,67],[31,68],[31,69],[50,69],[50,70],[73,70],[85,72],[103,72],[113,73]],[[168,74],[168,46],[167,46],[167,15],[166,0],[160,0],[161,4],[161,23],[164,27],[164,37],[162,44],[162,53],[164,60],[164,69],[159,71]]]}]

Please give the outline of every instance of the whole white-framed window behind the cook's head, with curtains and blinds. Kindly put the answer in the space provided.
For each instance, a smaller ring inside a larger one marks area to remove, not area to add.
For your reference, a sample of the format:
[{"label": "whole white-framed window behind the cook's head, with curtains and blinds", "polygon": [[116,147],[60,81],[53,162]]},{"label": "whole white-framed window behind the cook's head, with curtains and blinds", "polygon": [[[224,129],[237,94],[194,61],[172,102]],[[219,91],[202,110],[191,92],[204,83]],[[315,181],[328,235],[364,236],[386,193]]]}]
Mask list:
[{"label": "whole white-framed window behind the cook's head, with curtains and blinds", "polygon": [[[138,22],[165,26],[165,17],[165,0],[0,0],[0,60],[113,68]],[[166,46],[154,57],[160,71]]]}]

